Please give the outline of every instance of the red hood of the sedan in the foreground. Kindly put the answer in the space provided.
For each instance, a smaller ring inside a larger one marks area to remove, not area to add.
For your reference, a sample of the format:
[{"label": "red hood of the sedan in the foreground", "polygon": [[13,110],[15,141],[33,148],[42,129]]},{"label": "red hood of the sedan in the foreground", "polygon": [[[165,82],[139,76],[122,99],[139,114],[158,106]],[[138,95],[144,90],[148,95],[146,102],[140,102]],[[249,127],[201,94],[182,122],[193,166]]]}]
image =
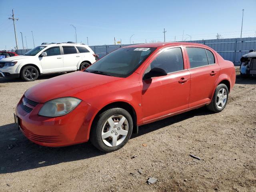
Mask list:
[{"label": "red hood of the sedan in the foreground", "polygon": [[72,72],[36,84],[25,92],[25,96],[44,103],[55,98],[74,96],[84,90],[119,79],[122,78],[82,71]]}]

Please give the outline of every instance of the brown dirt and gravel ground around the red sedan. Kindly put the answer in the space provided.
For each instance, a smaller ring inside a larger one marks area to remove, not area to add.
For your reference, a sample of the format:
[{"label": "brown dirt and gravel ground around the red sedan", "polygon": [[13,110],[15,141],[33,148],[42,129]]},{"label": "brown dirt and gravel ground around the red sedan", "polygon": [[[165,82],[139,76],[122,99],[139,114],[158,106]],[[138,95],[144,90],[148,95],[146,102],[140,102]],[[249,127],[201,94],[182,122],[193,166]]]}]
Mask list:
[{"label": "brown dirt and gravel ground around the red sedan", "polygon": [[0,79],[1,192],[256,191],[256,78],[237,75],[222,112],[200,108],[141,126],[124,148],[104,154],[89,142],[42,147],[18,131],[18,100],[53,76]]}]

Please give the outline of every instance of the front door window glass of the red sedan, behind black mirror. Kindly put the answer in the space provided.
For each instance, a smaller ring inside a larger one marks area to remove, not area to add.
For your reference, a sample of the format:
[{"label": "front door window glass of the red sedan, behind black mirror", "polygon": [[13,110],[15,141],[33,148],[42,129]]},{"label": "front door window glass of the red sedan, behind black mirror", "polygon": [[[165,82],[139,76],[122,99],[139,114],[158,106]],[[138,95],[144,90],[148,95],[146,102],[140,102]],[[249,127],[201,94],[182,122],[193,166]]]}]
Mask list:
[{"label": "front door window glass of the red sedan, behind black mirror", "polygon": [[162,68],[167,73],[184,70],[181,48],[170,48],[160,53],[148,66],[146,72],[155,67]]}]

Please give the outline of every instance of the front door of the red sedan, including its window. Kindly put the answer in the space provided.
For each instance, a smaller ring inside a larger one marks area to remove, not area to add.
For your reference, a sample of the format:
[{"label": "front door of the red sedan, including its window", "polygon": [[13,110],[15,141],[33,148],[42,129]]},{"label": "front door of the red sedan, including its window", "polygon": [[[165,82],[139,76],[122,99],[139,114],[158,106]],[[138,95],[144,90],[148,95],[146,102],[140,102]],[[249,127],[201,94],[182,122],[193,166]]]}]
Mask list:
[{"label": "front door of the red sedan, including its window", "polygon": [[184,58],[182,47],[169,47],[150,60],[144,74],[152,68],[162,68],[167,76],[142,80],[143,122],[188,109],[190,72]]}]

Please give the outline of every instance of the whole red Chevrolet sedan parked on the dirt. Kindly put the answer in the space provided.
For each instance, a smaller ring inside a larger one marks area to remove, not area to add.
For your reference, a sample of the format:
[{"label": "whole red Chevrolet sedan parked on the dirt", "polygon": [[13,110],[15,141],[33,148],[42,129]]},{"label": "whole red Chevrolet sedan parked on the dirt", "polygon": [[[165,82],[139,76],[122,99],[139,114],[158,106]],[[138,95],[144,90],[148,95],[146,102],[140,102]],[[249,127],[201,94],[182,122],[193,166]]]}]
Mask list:
[{"label": "whole red Chevrolet sedan parked on the dirt", "polygon": [[20,131],[37,144],[59,147],[90,139],[111,152],[142,124],[205,105],[222,111],[235,80],[234,64],[208,46],[139,44],[33,86],[14,116]]}]

